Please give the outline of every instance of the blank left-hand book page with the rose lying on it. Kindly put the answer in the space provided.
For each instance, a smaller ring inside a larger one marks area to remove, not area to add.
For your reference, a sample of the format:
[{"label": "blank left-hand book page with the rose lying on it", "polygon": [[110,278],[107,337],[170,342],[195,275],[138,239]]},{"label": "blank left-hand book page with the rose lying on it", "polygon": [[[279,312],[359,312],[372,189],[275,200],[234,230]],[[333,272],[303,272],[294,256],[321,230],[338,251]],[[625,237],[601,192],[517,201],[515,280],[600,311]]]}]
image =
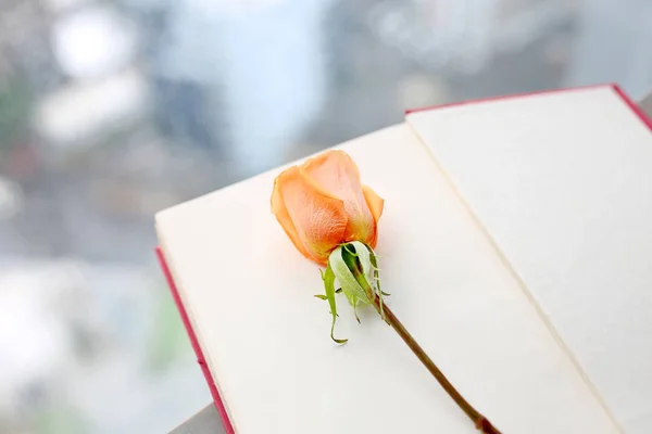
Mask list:
[{"label": "blank left-hand book page with the rose lying on it", "polygon": [[[405,125],[343,144],[385,197],[388,303],[504,433],[614,433],[607,413]],[[317,266],[269,210],[280,169],[156,216],[162,248],[239,434],[474,433],[371,308],[336,336]]]}]

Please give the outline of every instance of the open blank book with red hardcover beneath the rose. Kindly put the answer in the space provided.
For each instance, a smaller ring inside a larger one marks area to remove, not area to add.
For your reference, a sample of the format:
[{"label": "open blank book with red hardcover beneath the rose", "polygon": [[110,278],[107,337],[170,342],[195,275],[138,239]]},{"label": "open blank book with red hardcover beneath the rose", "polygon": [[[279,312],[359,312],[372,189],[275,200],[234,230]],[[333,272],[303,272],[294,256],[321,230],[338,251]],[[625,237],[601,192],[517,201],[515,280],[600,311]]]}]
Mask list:
[{"label": "open blank book with red hardcover beneath the rose", "polygon": [[[387,303],[503,433],[652,432],[652,124],[615,86],[409,112],[346,142]],[[281,168],[156,215],[227,432],[474,433],[373,308],[330,315]]]}]

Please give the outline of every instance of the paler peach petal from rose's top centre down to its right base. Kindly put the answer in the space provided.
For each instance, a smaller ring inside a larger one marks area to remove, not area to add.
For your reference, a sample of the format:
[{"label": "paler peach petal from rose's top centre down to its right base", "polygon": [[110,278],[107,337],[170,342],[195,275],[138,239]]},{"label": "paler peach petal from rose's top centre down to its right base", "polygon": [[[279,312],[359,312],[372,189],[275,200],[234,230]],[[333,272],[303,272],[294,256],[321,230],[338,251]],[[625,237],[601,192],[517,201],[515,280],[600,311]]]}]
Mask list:
[{"label": "paler peach petal from rose's top centre down to its right base", "polygon": [[349,216],[344,241],[367,242],[376,232],[376,222],[362,192],[360,173],[343,151],[327,151],[305,162],[299,169],[317,188],[343,201]]}]

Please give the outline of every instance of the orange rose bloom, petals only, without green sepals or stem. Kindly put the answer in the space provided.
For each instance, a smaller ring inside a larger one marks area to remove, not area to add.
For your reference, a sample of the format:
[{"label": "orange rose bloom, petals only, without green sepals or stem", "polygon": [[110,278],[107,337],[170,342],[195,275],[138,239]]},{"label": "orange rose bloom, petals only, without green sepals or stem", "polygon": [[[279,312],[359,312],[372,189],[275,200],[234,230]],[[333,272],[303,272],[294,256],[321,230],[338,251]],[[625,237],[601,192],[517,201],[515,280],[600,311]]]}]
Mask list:
[{"label": "orange rose bloom, petals only, without green sepals or stem", "polygon": [[299,252],[319,265],[342,243],[373,248],[383,205],[343,151],[327,151],[274,180],[272,212]]}]

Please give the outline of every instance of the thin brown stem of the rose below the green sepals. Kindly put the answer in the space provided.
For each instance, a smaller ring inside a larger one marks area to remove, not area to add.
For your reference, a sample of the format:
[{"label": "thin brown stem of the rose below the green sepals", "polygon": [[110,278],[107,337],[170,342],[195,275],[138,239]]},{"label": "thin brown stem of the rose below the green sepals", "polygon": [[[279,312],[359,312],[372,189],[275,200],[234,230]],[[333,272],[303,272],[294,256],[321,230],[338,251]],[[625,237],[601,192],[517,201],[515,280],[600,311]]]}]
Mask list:
[{"label": "thin brown stem of the rose below the green sepals", "polygon": [[[367,291],[371,292],[371,291]],[[403,342],[408,344],[412,353],[421,360],[422,363],[426,367],[426,369],[435,376],[435,379],[441,384],[443,390],[450,395],[451,398],[460,406],[460,408],[468,416],[468,418],[475,423],[476,429],[481,433],[486,434],[500,434],[500,431],[496,429],[491,422],[487,418],[485,418],[478,410],[473,408],[471,404],[457,392],[457,390],[451,384],[450,381],[446,378],[443,372],[437,368],[437,365],[428,357],[424,348],[421,347],[412,337],[410,332],[403,327],[401,321],[397,318],[397,316],[391,311],[391,309],[383,304],[383,309],[380,309],[379,298],[372,292],[372,298],[374,299],[374,307],[380,314],[380,317],[385,316],[385,321],[391,326],[392,329],[401,336]]]}]

